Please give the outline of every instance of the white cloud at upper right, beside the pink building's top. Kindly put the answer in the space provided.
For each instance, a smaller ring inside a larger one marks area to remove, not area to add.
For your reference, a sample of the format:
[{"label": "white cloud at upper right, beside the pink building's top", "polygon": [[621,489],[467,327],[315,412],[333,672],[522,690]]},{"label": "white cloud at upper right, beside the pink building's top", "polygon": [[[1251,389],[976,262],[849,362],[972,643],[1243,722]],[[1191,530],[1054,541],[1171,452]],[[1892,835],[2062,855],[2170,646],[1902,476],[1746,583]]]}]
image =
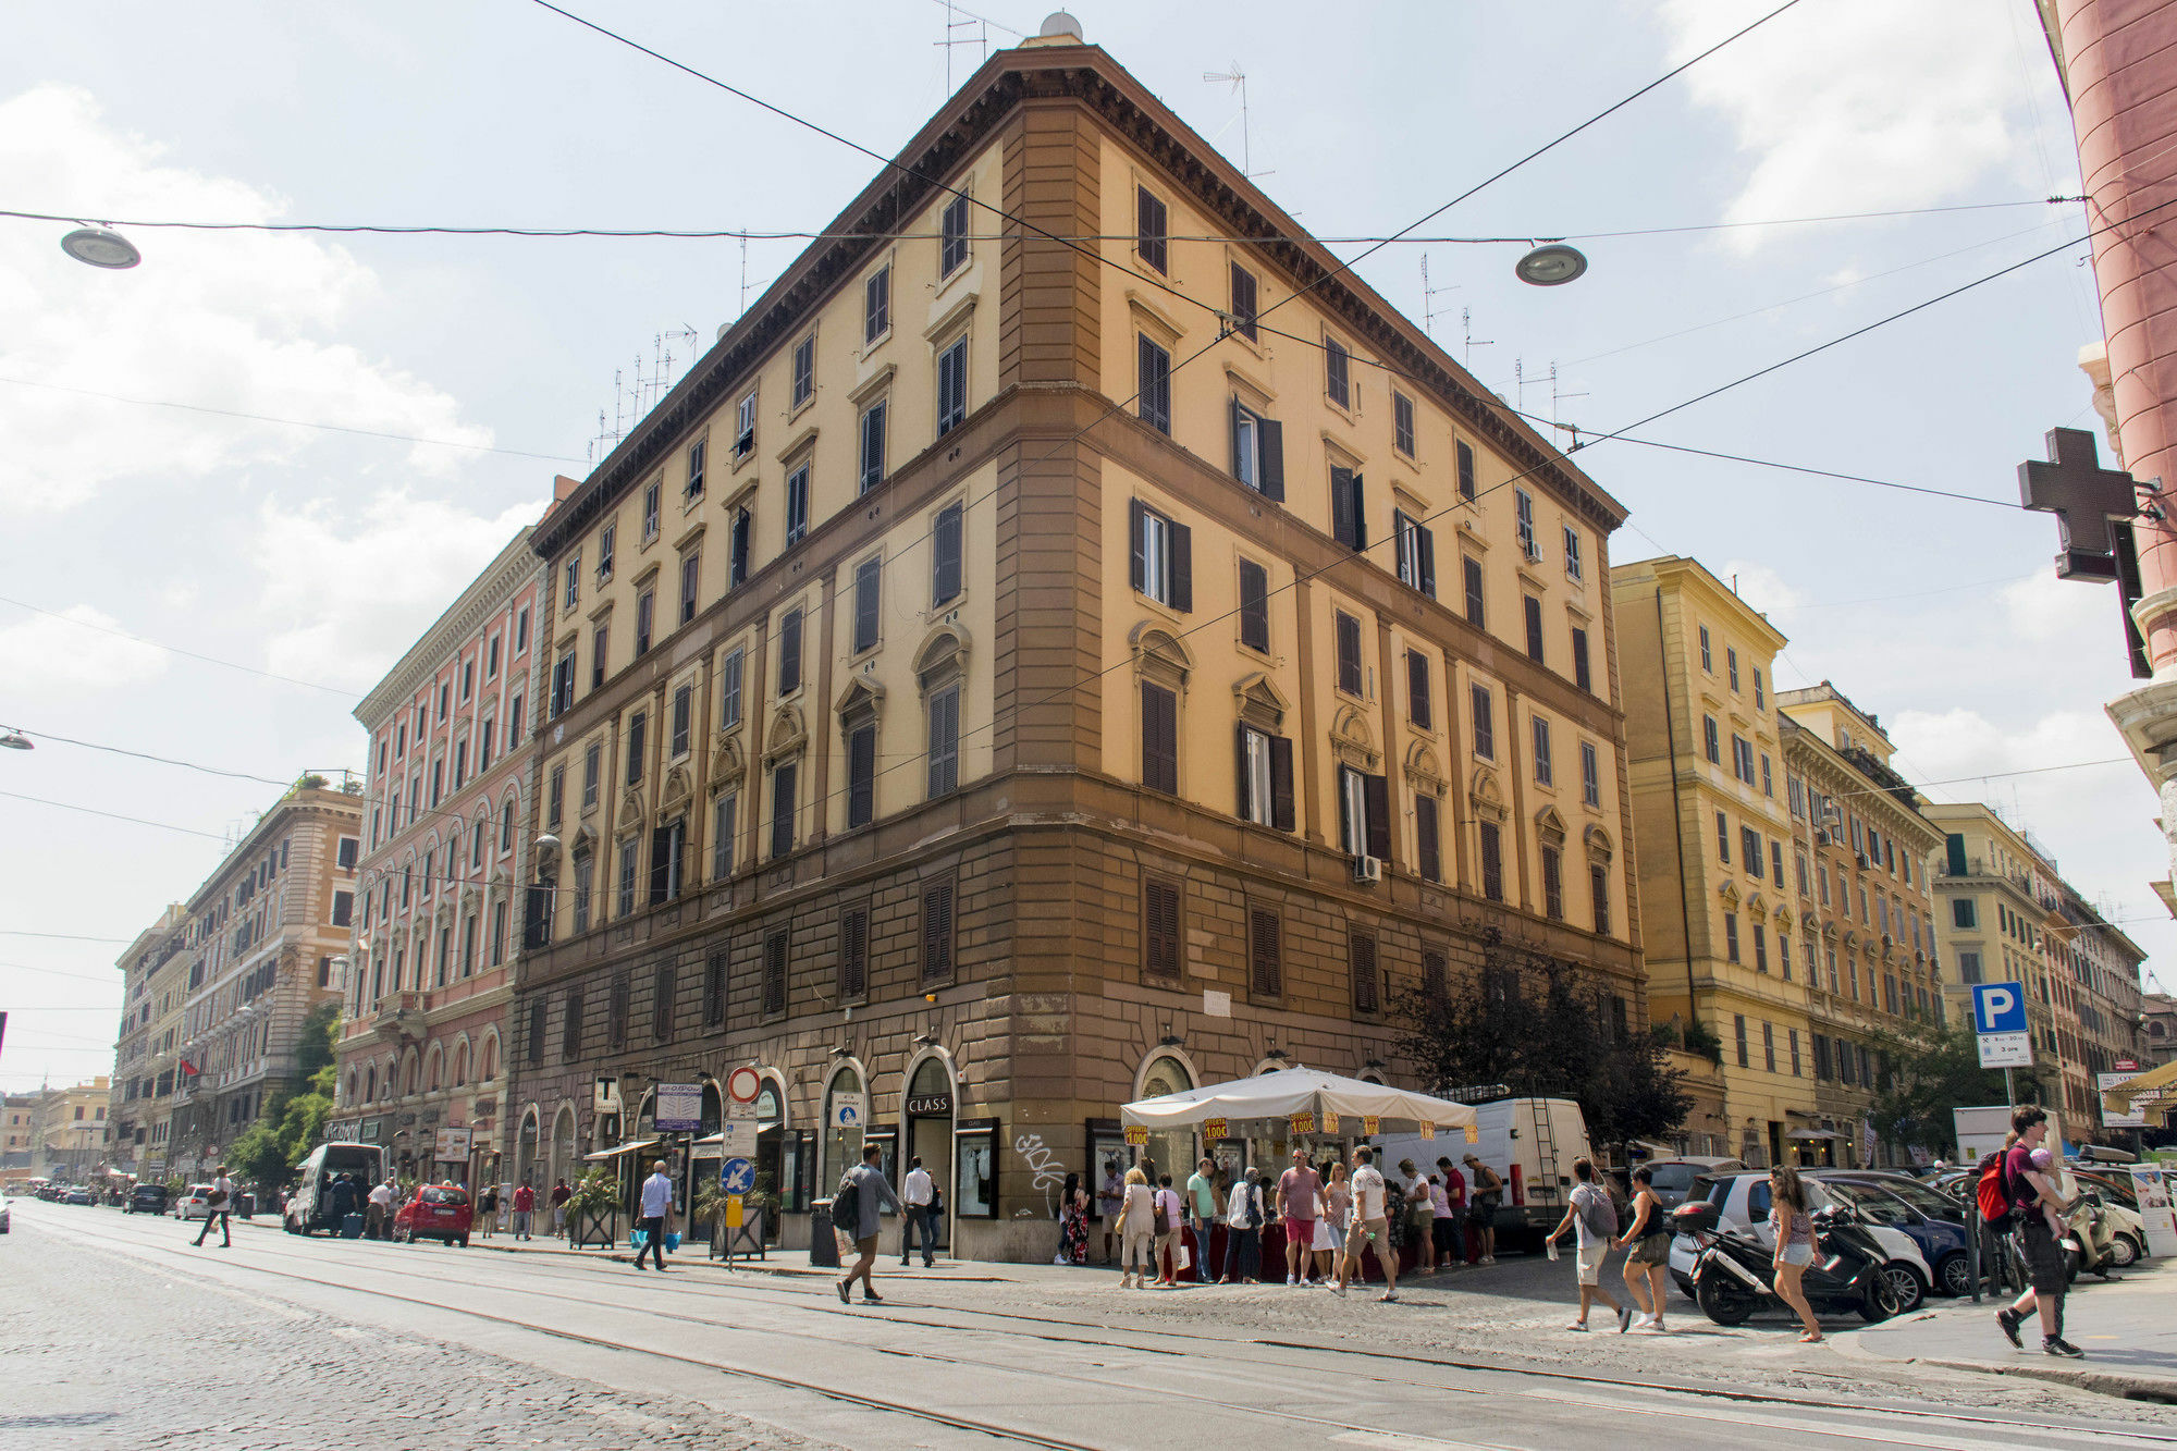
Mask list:
[{"label": "white cloud at upper right, beside the pink building's top", "polygon": [[[1668,0],[1672,59],[1770,9]],[[2049,183],[2044,163],[2070,185],[2062,176],[2075,176],[2077,159],[2055,68],[2018,24],[2031,24],[2029,7],[1824,0],[1692,68],[1683,85],[1726,120],[1750,163],[1724,220],[1977,200],[1994,183],[2029,196]],[[1772,235],[1744,229],[1724,244],[1750,253]]]}]

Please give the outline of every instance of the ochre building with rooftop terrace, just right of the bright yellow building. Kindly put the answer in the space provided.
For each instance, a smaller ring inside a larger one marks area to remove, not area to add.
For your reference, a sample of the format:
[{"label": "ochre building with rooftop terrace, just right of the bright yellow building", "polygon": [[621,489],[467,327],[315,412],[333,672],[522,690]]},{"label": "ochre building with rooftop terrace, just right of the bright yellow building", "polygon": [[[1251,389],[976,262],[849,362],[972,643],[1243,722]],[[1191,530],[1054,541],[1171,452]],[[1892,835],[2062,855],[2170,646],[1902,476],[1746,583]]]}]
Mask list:
[{"label": "ochre building with rooftop terrace, just right of the bright yellow building", "polygon": [[1811,1115],[1789,1135],[1805,1163],[1898,1163],[1907,1146],[1883,1144],[1872,1115],[1870,1039],[1948,1022],[1929,865],[1942,830],[1890,765],[1877,715],[1827,680],[1776,706],[1813,1081]]}]

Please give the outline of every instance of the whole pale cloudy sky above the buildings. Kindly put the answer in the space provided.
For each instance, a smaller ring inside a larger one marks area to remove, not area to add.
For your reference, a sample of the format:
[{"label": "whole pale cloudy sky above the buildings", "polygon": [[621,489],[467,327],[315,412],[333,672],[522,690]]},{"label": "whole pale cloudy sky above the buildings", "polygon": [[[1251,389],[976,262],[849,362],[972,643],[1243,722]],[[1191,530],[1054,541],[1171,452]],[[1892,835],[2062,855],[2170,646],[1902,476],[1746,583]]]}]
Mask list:
[{"label": "whole pale cloudy sky above the buildings", "polygon": [[[1302,224],[1372,237],[1776,2],[1073,11],[1228,155],[1245,137]],[[573,9],[886,155],[947,94],[940,0]],[[993,46],[1043,20],[973,9]],[[951,83],[982,59],[949,54]],[[1245,118],[1202,78],[1232,70]],[[792,231],[871,172],[525,0],[44,7],[0,54],[20,211]],[[1358,270],[1506,401],[1598,434],[2081,235],[2042,200],[2073,192],[2029,4],[1800,0]],[[797,246],[133,229],[144,266],[96,272],[63,231],[0,218],[0,723],[270,778],[361,765],[355,702],[586,471],[616,377],[684,368],[675,333],[708,340]],[[1524,288],[1520,244],[1456,242],[1504,235],[1574,235],[1591,270]],[[2099,427],[2081,255],[1637,436],[2016,501],[2049,427]],[[1957,782],[2125,754],[2101,710],[2127,684],[2118,603],[2053,580],[2053,521],[1628,442],[1581,458],[1633,510],[1618,560],[1735,577],[1792,636],[1781,686],[1833,680],[1909,778],[1955,782],[1931,795],[2001,802],[2142,946],[2177,943],[2133,767]],[[274,789],[48,741],[0,758],[0,1085],[104,1072],[120,946],[24,932],[133,939]]]}]

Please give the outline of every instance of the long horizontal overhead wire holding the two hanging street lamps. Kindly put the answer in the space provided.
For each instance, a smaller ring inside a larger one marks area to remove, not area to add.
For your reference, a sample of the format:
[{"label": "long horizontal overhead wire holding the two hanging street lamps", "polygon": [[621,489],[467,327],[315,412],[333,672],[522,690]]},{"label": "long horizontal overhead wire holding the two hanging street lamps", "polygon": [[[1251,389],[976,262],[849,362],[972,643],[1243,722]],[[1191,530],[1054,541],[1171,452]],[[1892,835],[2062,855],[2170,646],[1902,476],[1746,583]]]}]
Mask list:
[{"label": "long horizontal overhead wire holding the two hanging street lamps", "polygon": [[[1966,203],[1955,207],[1898,207],[1894,211],[1837,211],[1831,216],[1781,216],[1757,222],[1687,222],[1681,227],[1628,227],[1618,231],[1554,231],[1535,229],[1491,237],[1443,237],[1443,235],[1313,235],[1313,233],[1169,233],[1169,242],[1317,242],[1321,246],[1361,246],[1369,242],[1404,242],[1413,246],[1530,246],[1535,242],[1607,242],[1618,237],[1663,237],[1694,235],[1705,231],[1742,231],[1752,227],[1811,227],[1820,222],[1861,222],[1905,216],[1938,216],[1946,211],[1996,211],[2014,207],[2053,207],[2086,200],[2081,196],[2033,196],[1998,203]],[[192,222],[179,218],[124,218],[98,214],[104,227],[128,227],[135,231],[259,231],[259,233],[320,233],[320,235],[383,235],[383,237],[527,237],[527,240],[660,240],[660,242],[938,242],[936,231],[795,231],[795,229],[751,229],[751,227],[507,227],[507,224],[444,224],[444,222]],[[24,211],[0,207],[0,218],[24,222],[78,222],[76,214]],[[969,233],[969,242],[1010,242],[1021,233]],[[1132,242],[1139,233],[1045,233],[1054,242]]]}]

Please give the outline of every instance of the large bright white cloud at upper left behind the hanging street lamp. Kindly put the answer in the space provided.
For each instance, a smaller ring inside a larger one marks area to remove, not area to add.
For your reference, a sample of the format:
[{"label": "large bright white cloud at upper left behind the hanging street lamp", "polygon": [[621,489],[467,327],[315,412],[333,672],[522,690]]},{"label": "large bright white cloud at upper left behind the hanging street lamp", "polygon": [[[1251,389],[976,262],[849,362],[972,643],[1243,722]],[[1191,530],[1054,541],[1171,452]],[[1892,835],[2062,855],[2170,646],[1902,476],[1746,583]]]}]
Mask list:
[{"label": "large bright white cloud at upper left behind the hanging street lamp", "polygon": [[[83,89],[41,85],[0,102],[0,194],[46,211],[274,220],[283,203],[161,159],[104,124]],[[57,246],[61,224],[0,227],[0,447],[7,505],[63,510],[157,473],[198,479],[296,458],[335,438],[67,388],[488,444],[442,390],[333,342],[377,301],[377,277],[305,235],[142,231],[144,264],[96,272]],[[44,383],[26,386],[26,383]],[[342,447],[353,449],[353,440]],[[416,447],[409,468],[462,455]]]}]

